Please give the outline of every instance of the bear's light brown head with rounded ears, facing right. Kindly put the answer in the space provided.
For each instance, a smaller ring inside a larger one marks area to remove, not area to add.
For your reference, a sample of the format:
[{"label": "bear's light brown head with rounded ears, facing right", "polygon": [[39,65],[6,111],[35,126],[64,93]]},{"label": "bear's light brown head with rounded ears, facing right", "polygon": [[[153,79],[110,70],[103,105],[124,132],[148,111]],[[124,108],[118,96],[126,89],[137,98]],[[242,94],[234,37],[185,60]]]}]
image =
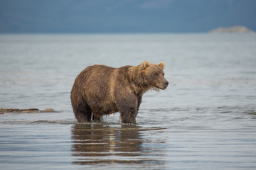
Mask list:
[{"label": "bear's light brown head with rounded ears, facing right", "polygon": [[169,82],[164,78],[164,62],[159,64],[151,64],[149,62],[142,62],[142,77],[144,77],[144,84],[151,86],[153,89],[166,89]]}]

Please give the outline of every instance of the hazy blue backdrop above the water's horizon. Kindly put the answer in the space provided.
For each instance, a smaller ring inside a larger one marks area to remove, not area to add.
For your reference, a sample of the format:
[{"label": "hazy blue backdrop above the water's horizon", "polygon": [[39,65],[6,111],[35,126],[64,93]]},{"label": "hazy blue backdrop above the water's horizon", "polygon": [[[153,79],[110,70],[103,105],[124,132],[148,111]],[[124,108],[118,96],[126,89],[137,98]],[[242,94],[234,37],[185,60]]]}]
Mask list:
[{"label": "hazy blue backdrop above the water's horizon", "polygon": [[256,31],[255,0],[0,0],[0,33]]}]

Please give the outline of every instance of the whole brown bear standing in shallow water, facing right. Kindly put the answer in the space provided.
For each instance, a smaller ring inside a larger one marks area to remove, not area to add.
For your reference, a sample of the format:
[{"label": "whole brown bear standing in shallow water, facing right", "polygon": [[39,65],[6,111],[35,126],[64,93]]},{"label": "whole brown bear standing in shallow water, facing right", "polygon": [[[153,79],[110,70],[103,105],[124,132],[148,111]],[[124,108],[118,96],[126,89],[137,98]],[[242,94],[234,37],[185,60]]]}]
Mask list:
[{"label": "whole brown bear standing in shallow water, facing right", "polygon": [[92,65],[76,77],[71,90],[75,118],[80,123],[101,120],[119,111],[122,123],[136,123],[142,95],[149,89],[166,89],[164,62],[142,62],[119,68]]}]

